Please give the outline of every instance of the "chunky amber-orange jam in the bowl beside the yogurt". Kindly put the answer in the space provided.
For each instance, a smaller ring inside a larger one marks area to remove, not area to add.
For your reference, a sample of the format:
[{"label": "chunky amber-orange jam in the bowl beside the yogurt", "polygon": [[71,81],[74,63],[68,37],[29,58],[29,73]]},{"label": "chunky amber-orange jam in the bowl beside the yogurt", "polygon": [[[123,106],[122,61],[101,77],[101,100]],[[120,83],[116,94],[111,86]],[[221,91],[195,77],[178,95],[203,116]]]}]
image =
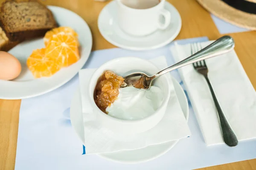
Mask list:
[{"label": "chunky amber-orange jam in the bowl beside the yogurt", "polygon": [[119,88],[126,84],[124,80],[123,77],[117,76],[112,71],[105,71],[99,78],[95,88],[94,101],[104,113],[106,113],[106,108],[117,99]]}]

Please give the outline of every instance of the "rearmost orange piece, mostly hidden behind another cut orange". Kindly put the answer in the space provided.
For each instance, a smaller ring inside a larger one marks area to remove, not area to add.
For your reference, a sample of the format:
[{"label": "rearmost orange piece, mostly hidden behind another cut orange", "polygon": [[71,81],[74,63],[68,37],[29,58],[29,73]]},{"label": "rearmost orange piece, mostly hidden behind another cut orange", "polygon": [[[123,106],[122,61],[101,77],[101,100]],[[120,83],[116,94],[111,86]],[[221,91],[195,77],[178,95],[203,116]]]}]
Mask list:
[{"label": "rearmost orange piece, mostly hidden behind another cut orange", "polygon": [[44,45],[47,47],[49,41],[52,39],[52,37],[55,37],[58,34],[66,34],[66,35],[71,35],[73,36],[76,41],[77,44],[79,45],[79,41],[78,41],[78,34],[76,33],[76,31],[74,31],[72,28],[70,27],[58,27],[58,28],[53,28],[50,31],[47,31],[47,33],[44,35]]}]

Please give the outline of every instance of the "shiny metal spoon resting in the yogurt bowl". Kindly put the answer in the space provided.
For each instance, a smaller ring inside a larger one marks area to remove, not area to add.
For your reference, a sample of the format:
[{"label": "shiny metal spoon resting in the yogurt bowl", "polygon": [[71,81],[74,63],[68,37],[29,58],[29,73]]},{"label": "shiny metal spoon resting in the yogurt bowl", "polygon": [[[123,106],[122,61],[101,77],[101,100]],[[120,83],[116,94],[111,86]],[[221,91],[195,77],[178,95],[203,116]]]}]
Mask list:
[{"label": "shiny metal spoon resting in the yogurt bowl", "polygon": [[216,40],[215,42],[212,42],[210,45],[198,51],[197,53],[193,54],[192,56],[187,57],[186,59],[183,59],[182,61],[176,63],[175,65],[172,65],[164,69],[163,71],[158,72],[153,76],[148,76],[147,74],[142,72],[135,72],[124,77],[124,79],[128,86],[134,86],[136,88],[150,88],[153,80],[156,79],[157,77],[160,77],[163,74],[168,73],[169,71],[175,70],[185,65],[189,65],[194,62],[201,61],[203,59],[208,59],[211,57],[215,57],[215,56],[227,53],[231,51],[234,48],[234,46],[235,46],[235,43],[233,38],[226,35],[226,36],[220,37],[218,40]]}]

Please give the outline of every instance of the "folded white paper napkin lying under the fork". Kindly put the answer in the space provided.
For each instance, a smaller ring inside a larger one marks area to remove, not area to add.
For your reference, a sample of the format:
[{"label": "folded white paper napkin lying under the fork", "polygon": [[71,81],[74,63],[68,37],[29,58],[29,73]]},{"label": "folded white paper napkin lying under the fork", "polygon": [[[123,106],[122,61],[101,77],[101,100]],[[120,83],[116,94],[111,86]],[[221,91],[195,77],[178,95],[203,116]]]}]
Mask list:
[{"label": "folded white paper napkin lying under the fork", "polygon": [[[212,41],[201,43],[202,47]],[[171,47],[179,62],[191,55],[190,44]],[[208,77],[218,102],[236,133],[238,140],[256,138],[256,92],[250,83],[235,51],[206,60]],[[205,78],[192,65],[179,69],[181,78],[195,111],[198,124],[207,145],[222,144],[220,125]]]}]

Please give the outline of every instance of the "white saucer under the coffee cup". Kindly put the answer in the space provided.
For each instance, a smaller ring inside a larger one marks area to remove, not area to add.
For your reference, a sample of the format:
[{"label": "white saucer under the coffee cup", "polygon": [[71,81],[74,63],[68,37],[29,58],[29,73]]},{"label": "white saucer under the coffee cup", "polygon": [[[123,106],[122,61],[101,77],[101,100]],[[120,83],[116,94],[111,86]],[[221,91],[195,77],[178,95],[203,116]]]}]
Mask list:
[{"label": "white saucer under the coffee cup", "polygon": [[166,2],[165,8],[171,12],[170,26],[165,30],[157,30],[154,33],[135,37],[123,32],[117,23],[117,4],[112,1],[106,5],[98,18],[98,28],[102,36],[111,44],[129,50],[150,50],[162,47],[177,37],[181,28],[181,17],[172,4]]}]

